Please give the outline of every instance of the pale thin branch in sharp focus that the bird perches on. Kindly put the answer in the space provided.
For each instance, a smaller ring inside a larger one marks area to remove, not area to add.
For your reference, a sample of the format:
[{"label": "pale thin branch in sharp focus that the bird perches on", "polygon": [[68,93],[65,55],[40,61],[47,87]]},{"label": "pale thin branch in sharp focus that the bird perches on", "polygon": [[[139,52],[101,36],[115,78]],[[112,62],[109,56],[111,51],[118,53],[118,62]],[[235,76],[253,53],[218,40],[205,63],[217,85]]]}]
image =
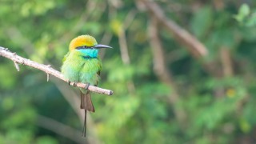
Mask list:
[{"label": "pale thin branch in sharp focus that the bird perches on", "polygon": [[[42,70],[42,71],[46,72],[46,74],[51,74],[56,78],[62,79],[65,82],[69,82],[69,80],[64,78],[63,75],[58,70],[54,70],[53,68],[50,67],[50,65],[46,66],[41,63],[31,61],[30,59],[22,58],[21,56],[18,56],[16,53],[10,52],[10,50],[8,50],[2,46],[0,46],[0,56],[9,58],[10,60],[14,61],[14,64],[16,63],[15,64],[16,69],[17,69],[18,63],[19,63],[22,65],[34,67],[35,69],[38,69],[38,70]],[[81,83],[81,82],[79,82],[79,83],[70,82],[70,85],[77,86],[80,88],[86,88],[86,84]],[[93,91],[98,94],[106,94],[106,95],[113,94],[112,90],[102,89],[97,86],[89,86],[88,90]]]}]

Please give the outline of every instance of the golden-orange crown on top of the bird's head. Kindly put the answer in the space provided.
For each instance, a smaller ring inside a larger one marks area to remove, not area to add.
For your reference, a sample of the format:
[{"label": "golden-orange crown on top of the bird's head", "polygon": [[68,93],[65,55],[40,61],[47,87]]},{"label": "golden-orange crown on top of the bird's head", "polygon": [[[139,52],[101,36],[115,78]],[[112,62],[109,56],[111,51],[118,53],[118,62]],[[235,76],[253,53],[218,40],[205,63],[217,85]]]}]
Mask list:
[{"label": "golden-orange crown on top of the bird's head", "polygon": [[97,41],[90,35],[80,35],[77,38],[72,39],[70,42],[70,50],[74,50],[78,46],[95,46]]}]

